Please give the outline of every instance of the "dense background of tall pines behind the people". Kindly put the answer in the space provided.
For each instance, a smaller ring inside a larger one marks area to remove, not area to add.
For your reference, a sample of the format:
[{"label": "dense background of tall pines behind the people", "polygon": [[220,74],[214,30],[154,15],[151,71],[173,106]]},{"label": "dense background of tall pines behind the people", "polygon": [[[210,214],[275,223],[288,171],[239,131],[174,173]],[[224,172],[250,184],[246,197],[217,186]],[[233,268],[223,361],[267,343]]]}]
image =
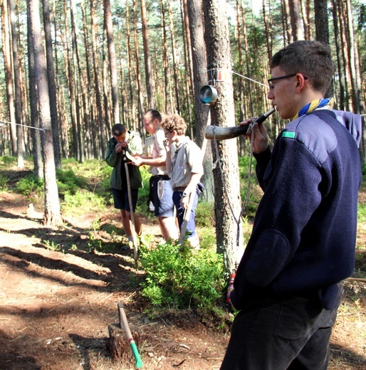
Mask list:
[{"label": "dense background of tall pines behind the people", "polygon": [[[300,39],[330,43],[338,109],[365,112],[365,0],[216,2],[227,18],[221,21],[229,23],[235,102],[235,122],[229,125],[269,109],[268,60]],[[22,157],[39,151],[40,125],[50,125],[56,166],[61,157],[103,159],[114,123],[145,137],[141,117],[150,107],[182,115],[196,138],[202,125],[199,88],[211,80],[211,68],[221,67],[220,60],[217,65],[196,61],[206,58],[204,38],[195,34],[204,25],[207,4],[1,1],[0,156],[17,156],[21,166]],[[36,97],[38,78],[44,80],[46,112]],[[273,138],[284,123],[274,116],[269,120]],[[243,151],[241,144],[239,154]]]}]

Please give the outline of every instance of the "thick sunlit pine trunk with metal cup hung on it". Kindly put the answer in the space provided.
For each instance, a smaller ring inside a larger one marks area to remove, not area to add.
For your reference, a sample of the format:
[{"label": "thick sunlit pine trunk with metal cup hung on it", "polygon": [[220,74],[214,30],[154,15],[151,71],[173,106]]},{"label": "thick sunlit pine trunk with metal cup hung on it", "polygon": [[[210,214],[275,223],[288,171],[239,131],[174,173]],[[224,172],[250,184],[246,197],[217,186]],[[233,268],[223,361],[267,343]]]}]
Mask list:
[{"label": "thick sunlit pine trunk with metal cup hung on it", "polygon": [[[204,0],[205,40],[209,70],[231,71],[229,22],[226,1]],[[216,78],[217,80],[217,78]],[[211,125],[234,126],[234,94],[231,73],[225,83],[216,85],[218,98],[211,105]],[[234,270],[241,253],[241,199],[236,140],[213,142],[215,178],[216,242],[218,253],[224,254],[226,273]],[[217,152],[216,152],[217,149]],[[216,162],[217,161],[217,162]]]}]

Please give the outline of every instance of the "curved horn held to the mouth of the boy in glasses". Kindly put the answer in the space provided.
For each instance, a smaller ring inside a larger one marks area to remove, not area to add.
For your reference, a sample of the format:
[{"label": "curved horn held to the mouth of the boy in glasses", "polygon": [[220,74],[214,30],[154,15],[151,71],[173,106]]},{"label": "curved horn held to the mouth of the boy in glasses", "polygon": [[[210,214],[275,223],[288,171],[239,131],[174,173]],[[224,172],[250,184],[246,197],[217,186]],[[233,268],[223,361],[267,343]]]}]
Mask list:
[{"label": "curved horn held to the mouth of the boy in glasses", "polygon": [[251,131],[251,128],[255,123],[258,123],[258,125],[260,125],[263,121],[266,120],[267,117],[269,117],[274,112],[276,112],[276,108],[273,107],[271,110],[268,110],[268,112],[263,113],[261,117],[254,118],[253,121],[251,121],[251,123],[246,126],[219,127],[208,125],[206,126],[205,137],[209,140],[226,140],[244,135]]}]

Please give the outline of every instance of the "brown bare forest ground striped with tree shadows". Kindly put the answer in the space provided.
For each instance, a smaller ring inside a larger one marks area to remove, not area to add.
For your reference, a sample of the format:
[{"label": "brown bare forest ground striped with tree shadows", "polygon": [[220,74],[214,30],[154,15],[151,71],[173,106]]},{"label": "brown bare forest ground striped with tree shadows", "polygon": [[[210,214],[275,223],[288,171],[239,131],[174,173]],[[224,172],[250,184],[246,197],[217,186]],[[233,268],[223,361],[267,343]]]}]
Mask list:
[{"label": "brown bare forest ground striped with tree shadows", "polygon": [[[190,310],[147,314],[132,251],[88,248],[91,238],[104,245],[110,238],[103,227],[93,231],[95,214],[68,217],[58,229],[43,226],[42,217],[25,197],[0,192],[1,370],[135,369],[130,351],[122,361],[110,356],[108,325],[118,322],[117,302],[124,304],[142,369],[219,369],[229,323]],[[98,218],[101,226],[120,227],[115,209]],[[144,233],[160,240],[155,220],[142,221]],[[56,248],[70,242],[73,248]],[[330,348],[329,369],[366,369],[365,283],[346,282]]]}]

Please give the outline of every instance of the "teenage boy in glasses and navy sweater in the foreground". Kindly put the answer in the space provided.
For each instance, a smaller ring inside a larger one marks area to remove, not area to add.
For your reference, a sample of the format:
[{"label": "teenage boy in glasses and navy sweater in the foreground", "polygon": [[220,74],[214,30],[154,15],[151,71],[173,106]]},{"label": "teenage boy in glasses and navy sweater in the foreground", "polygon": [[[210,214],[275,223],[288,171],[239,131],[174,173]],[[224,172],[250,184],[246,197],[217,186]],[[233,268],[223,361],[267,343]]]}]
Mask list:
[{"label": "teenage boy in glasses and navy sweater in the foreground", "polygon": [[291,122],[272,151],[264,125],[251,132],[264,194],[231,292],[240,311],[221,370],[325,370],[355,263],[361,117],[324,98],[334,67],[323,43],[296,41],[270,67],[268,99]]}]

